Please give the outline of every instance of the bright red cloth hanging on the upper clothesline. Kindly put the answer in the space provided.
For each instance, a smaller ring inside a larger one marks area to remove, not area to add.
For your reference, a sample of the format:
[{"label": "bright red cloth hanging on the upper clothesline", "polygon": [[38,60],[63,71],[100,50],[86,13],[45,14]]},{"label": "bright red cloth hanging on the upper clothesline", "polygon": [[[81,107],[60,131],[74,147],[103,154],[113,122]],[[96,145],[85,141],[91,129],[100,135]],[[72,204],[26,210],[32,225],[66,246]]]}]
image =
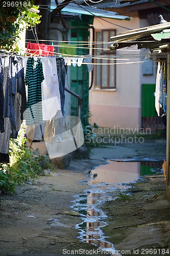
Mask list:
[{"label": "bright red cloth hanging on the upper clothesline", "polygon": [[27,55],[30,55],[30,53],[38,55],[39,49],[41,49],[41,56],[51,56],[54,53],[54,46],[36,44],[34,42],[27,43]]}]

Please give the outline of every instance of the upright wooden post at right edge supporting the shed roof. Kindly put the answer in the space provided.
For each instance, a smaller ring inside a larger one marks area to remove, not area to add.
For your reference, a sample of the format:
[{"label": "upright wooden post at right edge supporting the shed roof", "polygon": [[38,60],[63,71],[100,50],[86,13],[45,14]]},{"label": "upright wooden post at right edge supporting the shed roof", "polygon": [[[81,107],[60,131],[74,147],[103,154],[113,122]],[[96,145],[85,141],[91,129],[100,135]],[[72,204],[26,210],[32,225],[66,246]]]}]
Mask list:
[{"label": "upright wooden post at right edge supporting the shed roof", "polygon": [[170,199],[170,43],[167,45],[166,197]]}]

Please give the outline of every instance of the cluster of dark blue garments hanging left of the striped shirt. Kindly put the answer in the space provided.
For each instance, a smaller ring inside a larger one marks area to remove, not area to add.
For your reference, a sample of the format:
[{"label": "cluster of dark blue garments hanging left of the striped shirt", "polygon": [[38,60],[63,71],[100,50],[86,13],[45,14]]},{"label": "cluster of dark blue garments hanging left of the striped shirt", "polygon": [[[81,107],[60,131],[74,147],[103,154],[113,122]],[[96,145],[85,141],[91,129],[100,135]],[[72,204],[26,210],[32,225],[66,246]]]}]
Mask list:
[{"label": "cluster of dark blue garments hanging left of the striped shirt", "polygon": [[10,137],[17,137],[23,120],[23,111],[26,109],[23,58],[21,56],[2,55],[0,63],[0,99],[2,107],[0,115],[0,162],[9,163]]}]

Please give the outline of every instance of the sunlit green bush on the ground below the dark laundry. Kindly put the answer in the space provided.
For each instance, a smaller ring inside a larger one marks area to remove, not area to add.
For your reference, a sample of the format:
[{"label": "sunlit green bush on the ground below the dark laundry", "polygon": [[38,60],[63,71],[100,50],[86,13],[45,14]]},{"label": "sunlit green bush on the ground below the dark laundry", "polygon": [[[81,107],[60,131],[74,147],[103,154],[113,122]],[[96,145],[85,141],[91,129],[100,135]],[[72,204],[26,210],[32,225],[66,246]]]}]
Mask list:
[{"label": "sunlit green bush on the ground below the dark laundry", "polygon": [[30,151],[26,145],[27,139],[21,135],[17,139],[10,139],[10,163],[0,163],[0,190],[14,192],[15,185],[29,182],[31,179],[44,175],[44,169],[49,168],[47,156],[41,156],[36,151]]}]

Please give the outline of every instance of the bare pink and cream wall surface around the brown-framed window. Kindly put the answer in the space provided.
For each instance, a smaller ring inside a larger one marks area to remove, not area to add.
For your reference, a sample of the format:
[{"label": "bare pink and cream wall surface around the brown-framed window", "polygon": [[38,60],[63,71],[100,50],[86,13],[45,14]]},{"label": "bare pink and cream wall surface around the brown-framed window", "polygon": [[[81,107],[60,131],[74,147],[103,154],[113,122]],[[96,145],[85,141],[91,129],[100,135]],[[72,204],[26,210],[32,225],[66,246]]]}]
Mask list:
[{"label": "bare pink and cream wall surface around the brown-framed window", "polygon": [[[137,12],[133,13],[133,18],[127,20],[108,19],[111,23],[129,29],[143,27],[143,22],[137,17]],[[99,18],[94,18],[93,27],[95,29],[116,29],[116,34],[126,32],[127,29],[104,22]],[[127,50],[127,51],[126,51]],[[138,51],[138,52],[137,52]],[[143,50],[142,50],[143,51]],[[117,50],[116,55],[127,60],[116,61],[116,89],[95,89],[89,93],[90,123],[95,122],[100,127],[124,127],[125,129],[135,129],[141,127],[141,84],[154,83],[155,73],[152,76],[142,75],[142,63],[128,63],[142,61],[137,47]],[[133,57],[138,54],[138,57]],[[118,62],[127,62],[118,64]]]}]

